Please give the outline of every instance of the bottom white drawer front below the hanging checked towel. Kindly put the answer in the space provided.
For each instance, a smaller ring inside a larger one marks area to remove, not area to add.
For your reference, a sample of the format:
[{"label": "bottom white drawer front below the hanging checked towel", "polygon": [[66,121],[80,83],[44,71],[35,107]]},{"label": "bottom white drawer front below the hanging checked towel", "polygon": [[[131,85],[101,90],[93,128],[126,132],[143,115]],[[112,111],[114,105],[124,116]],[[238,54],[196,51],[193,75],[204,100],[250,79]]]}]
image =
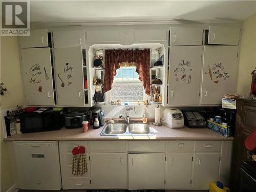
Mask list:
[{"label": "bottom white drawer front below the hanging checked towel", "polygon": [[87,189],[91,188],[90,178],[69,178],[62,183],[63,189]]}]

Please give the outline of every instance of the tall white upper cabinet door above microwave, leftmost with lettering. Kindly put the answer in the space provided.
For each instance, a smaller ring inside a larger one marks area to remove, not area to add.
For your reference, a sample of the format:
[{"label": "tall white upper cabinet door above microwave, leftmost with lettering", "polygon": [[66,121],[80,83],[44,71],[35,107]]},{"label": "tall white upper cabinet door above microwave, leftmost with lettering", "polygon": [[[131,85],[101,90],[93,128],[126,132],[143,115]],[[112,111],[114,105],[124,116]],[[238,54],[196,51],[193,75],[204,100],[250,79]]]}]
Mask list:
[{"label": "tall white upper cabinet door above microwave, leftmost with lettering", "polygon": [[27,105],[54,105],[50,48],[20,49]]}]

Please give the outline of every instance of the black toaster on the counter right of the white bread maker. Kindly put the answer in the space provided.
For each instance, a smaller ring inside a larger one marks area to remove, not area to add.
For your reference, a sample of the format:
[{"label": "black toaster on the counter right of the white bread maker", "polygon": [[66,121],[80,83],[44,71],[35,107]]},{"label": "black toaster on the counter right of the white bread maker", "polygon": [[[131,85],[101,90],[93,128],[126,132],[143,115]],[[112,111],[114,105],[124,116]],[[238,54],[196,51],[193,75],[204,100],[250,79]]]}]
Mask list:
[{"label": "black toaster on the counter right of the white bread maker", "polygon": [[205,127],[207,125],[203,114],[199,111],[182,111],[184,124],[189,128]]}]

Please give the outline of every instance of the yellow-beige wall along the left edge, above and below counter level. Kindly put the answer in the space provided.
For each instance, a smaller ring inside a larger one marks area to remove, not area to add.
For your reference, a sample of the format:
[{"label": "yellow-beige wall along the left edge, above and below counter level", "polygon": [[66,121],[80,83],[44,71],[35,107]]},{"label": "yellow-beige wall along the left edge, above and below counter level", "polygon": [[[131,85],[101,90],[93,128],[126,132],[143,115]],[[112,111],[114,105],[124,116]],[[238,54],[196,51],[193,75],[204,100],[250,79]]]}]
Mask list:
[{"label": "yellow-beige wall along the left edge, above and below counter level", "polygon": [[[1,82],[5,83],[7,92],[1,96],[1,110],[24,104],[24,94],[20,76],[17,37],[1,37]],[[1,126],[1,191],[6,191],[14,182],[12,163],[14,155],[10,153],[10,144],[3,141]]]}]

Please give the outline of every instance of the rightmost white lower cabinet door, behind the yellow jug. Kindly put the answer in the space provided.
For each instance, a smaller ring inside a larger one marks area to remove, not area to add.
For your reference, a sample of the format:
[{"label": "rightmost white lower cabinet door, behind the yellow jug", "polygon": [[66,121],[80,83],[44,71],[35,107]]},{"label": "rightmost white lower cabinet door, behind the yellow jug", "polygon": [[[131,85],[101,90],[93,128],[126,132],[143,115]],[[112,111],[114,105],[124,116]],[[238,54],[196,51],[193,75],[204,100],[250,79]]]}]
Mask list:
[{"label": "rightmost white lower cabinet door, behind the yellow jug", "polygon": [[220,153],[195,153],[192,179],[193,189],[208,189],[209,183],[218,181]]}]

